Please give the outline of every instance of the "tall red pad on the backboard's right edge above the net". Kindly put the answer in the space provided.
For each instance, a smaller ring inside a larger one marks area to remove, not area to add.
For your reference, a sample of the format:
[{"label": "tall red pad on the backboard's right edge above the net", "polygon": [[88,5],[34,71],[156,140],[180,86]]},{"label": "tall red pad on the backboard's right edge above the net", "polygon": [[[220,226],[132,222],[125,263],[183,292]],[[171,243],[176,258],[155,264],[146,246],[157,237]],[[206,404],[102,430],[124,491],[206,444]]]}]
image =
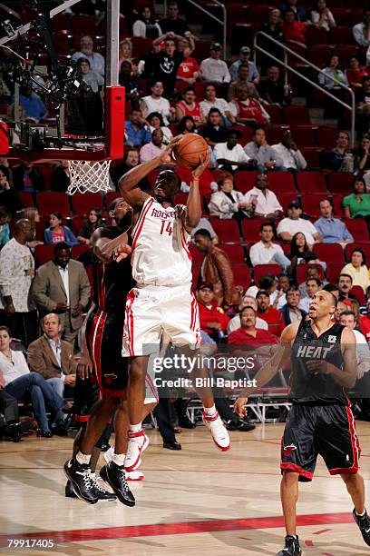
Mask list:
[{"label": "tall red pad on the backboard's right edge above the net", "polygon": [[124,87],[105,87],[106,157],[123,158]]}]

